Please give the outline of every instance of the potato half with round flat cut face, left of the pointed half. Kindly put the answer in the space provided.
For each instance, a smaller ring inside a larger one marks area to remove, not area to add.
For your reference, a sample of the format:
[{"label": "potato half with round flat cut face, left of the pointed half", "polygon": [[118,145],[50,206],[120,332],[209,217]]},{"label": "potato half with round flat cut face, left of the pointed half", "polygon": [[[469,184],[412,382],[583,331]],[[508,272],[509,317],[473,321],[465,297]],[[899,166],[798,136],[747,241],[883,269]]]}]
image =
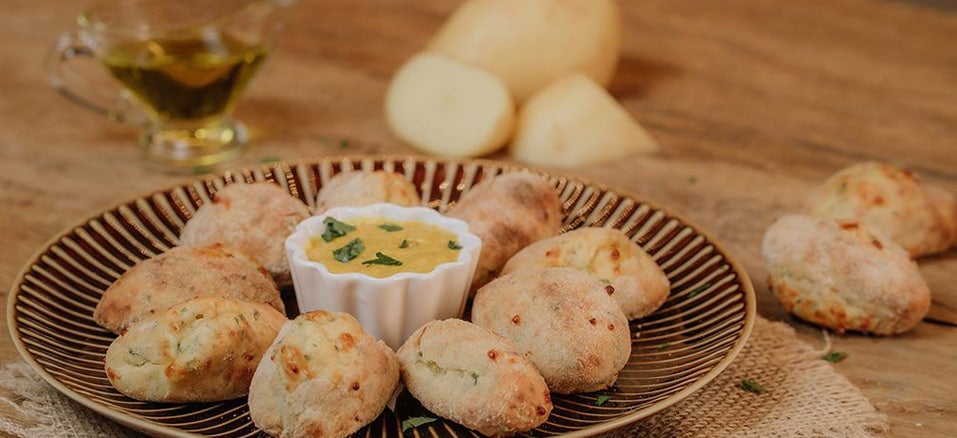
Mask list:
[{"label": "potato half with round flat cut face, left of the pointed half", "polygon": [[494,152],[515,124],[515,105],[500,79],[428,52],[413,56],[393,76],[385,113],[397,137],[449,156]]}]

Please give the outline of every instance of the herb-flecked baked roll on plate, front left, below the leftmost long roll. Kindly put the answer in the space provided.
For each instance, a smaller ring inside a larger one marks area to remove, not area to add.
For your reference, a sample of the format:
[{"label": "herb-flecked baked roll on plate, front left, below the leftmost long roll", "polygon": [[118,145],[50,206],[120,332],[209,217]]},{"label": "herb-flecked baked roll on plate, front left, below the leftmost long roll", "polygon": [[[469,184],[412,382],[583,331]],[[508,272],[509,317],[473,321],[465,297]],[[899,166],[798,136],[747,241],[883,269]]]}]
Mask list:
[{"label": "herb-flecked baked roll on plate, front left, below the leftmost long roll", "polygon": [[146,318],[106,351],[106,375],[137,400],[242,397],[286,316],[261,303],[196,298]]}]

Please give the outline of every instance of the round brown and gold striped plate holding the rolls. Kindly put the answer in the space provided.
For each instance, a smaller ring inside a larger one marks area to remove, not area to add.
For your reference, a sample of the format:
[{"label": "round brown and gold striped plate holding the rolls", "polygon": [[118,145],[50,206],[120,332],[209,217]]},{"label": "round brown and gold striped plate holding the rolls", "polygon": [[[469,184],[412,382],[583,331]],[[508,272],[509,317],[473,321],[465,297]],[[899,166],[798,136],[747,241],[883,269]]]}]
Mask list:
[{"label": "round brown and gold striped plate holding the rolls", "polygon": [[[263,435],[250,421],[245,399],[161,404],[118,393],[103,371],[114,335],[93,322],[93,309],[123,272],[176,245],[183,224],[224,184],[274,181],[313,206],[319,187],[350,169],[404,174],[419,187],[423,203],[445,211],[478,181],[521,167],[409,156],[323,158],[226,172],[121,203],[55,237],[24,267],[7,306],[17,349],[57,390],[150,435]],[[701,230],[659,207],[599,184],[539,173],[561,193],[564,230],[623,230],[664,268],[672,289],[660,310],[632,321],[631,359],[617,383],[597,393],[555,394],[548,421],[527,435],[609,432],[675,404],[714,379],[744,346],[755,318],[754,290],[741,265]],[[431,414],[403,393],[394,409],[386,409],[358,435],[403,436],[403,420],[418,416]],[[476,435],[447,421],[404,434]]]}]

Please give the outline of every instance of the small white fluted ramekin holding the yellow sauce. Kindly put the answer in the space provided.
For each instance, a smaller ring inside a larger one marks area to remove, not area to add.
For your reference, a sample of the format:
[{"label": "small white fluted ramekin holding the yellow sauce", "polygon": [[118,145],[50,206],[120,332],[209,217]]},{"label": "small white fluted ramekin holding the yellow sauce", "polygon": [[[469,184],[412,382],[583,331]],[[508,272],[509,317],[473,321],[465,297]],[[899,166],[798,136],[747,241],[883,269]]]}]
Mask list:
[{"label": "small white fluted ramekin holding the yellow sauce", "polygon": [[[326,217],[343,222],[352,218],[422,221],[454,233],[462,249],[457,260],[440,264],[425,274],[402,272],[385,278],[334,274],[306,256],[310,238],[325,231]],[[462,316],[481,250],[481,239],[470,233],[468,224],[461,220],[431,208],[385,203],[329,209],[300,222],[286,239],[286,257],[299,311],[348,312],[368,333],[393,349],[429,321]]]}]

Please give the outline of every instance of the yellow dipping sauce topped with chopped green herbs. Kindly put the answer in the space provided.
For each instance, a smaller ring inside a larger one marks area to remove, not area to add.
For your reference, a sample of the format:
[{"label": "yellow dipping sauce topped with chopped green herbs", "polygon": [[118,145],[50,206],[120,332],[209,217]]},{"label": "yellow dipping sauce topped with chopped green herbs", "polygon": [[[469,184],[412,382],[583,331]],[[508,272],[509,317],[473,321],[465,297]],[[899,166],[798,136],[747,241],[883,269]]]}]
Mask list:
[{"label": "yellow dipping sauce topped with chopped green herbs", "polygon": [[325,232],[306,244],[306,256],[334,274],[424,274],[459,258],[458,236],[430,223],[384,218],[326,218],[324,223]]}]

